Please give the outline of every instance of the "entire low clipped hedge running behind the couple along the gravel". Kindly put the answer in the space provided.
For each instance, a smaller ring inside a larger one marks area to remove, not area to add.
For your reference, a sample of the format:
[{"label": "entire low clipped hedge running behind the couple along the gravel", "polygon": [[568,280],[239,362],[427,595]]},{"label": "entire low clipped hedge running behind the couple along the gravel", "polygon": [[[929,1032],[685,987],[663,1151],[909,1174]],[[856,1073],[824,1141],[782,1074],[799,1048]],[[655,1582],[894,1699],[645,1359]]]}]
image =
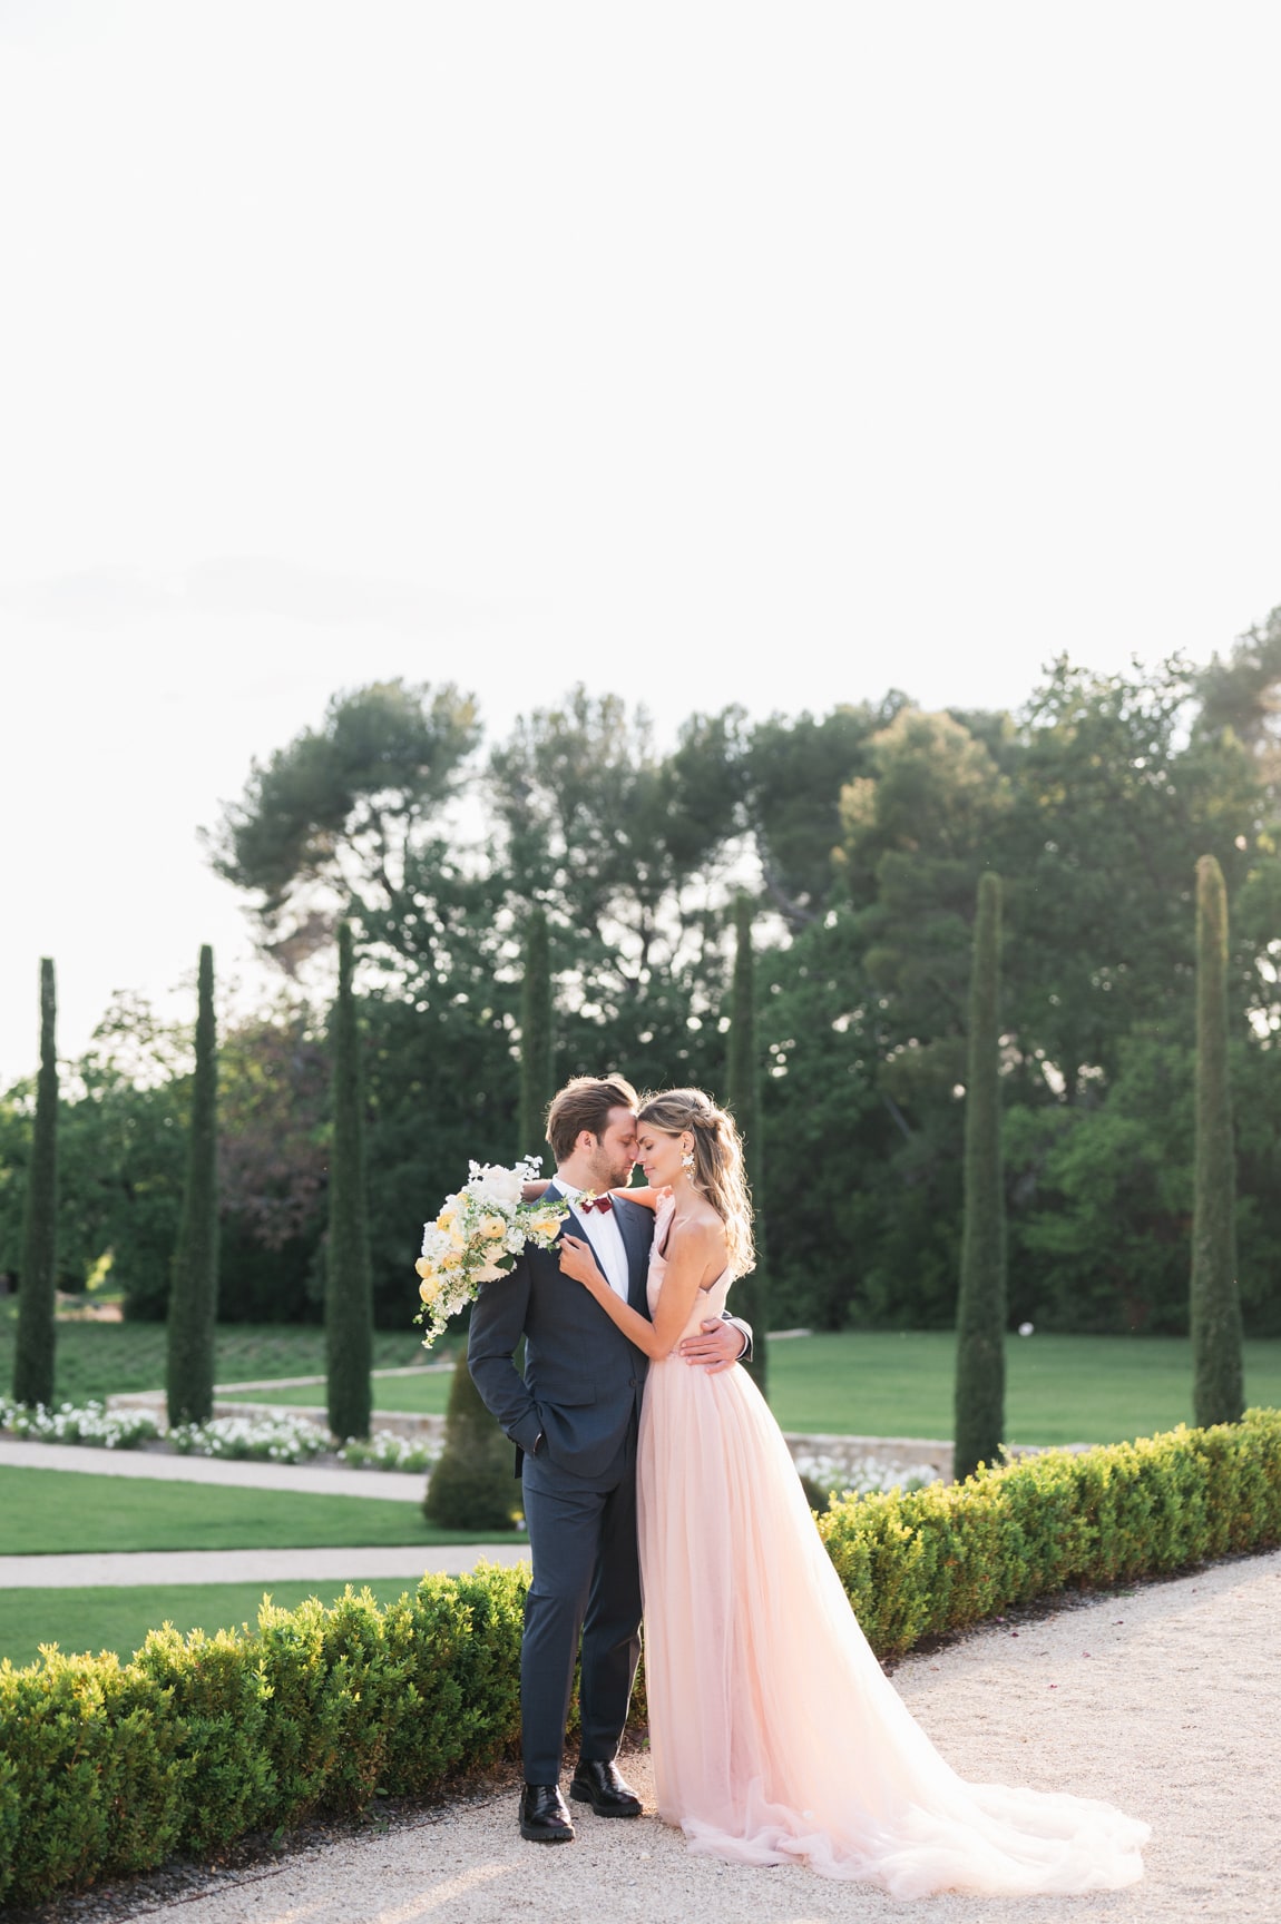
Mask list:
[{"label": "entire low clipped hedge running behind the couple along the gravel", "polygon": [[[835,1503],[819,1530],[873,1649],[898,1655],[1066,1585],[1279,1543],[1281,1412]],[[523,1593],[523,1572],[481,1568],[385,1608],[267,1605],[256,1633],[158,1630],[127,1664],[0,1666],[0,1901],[492,1764],[519,1730]]]}]

